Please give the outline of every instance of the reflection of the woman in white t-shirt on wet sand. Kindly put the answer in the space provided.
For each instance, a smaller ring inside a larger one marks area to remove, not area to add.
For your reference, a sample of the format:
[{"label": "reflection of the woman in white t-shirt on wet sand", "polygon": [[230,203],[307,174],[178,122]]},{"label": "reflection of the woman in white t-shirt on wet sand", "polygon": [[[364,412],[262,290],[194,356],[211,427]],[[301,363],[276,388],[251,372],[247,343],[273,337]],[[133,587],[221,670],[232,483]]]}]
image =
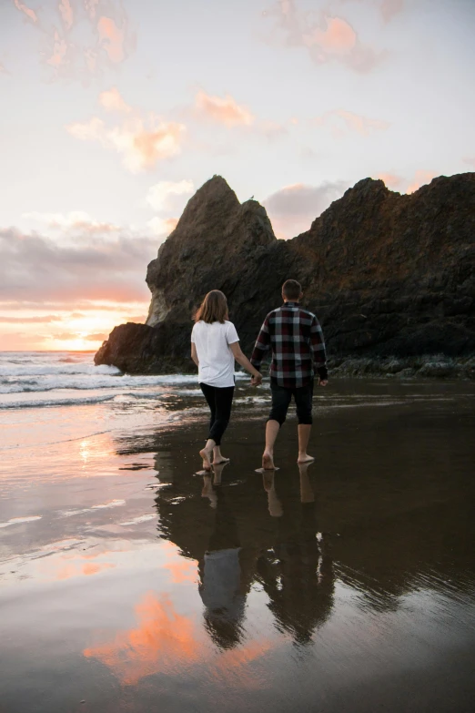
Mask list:
[{"label": "reflection of the woman in white t-shirt on wet sand", "polygon": [[[215,483],[220,483],[220,468],[215,466]],[[215,490],[211,477],[204,476],[203,496],[216,510],[215,526],[209,538],[204,561],[200,562],[199,594],[206,607],[205,622],[213,641],[222,648],[241,640],[246,595],[246,552],[240,546],[236,517],[221,488]],[[251,573],[252,574],[252,573]]]}]

